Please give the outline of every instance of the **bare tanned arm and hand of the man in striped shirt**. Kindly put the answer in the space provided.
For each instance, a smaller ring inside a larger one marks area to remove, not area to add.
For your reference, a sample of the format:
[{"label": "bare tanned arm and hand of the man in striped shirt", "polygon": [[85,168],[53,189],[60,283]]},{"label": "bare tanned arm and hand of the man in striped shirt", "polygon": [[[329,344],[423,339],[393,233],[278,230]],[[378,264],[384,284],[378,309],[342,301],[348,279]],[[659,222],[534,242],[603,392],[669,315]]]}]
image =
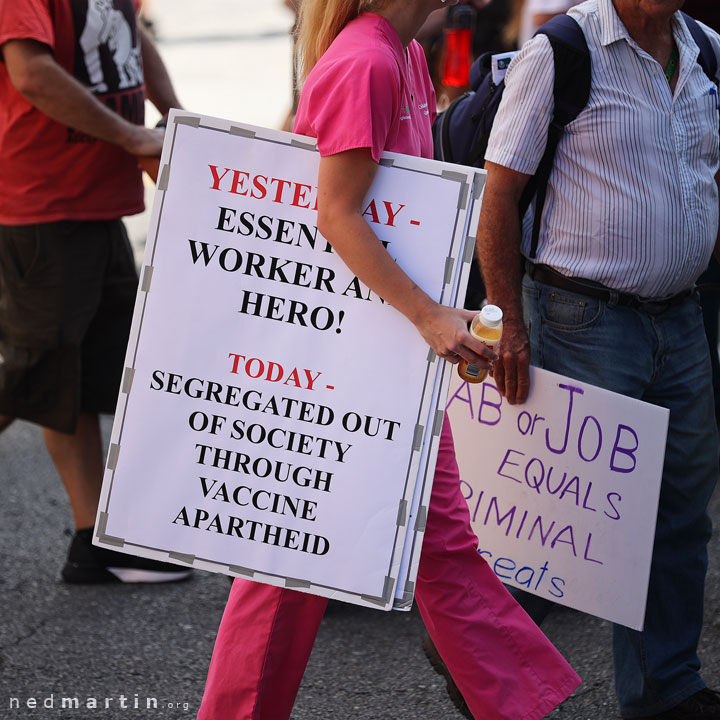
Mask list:
[{"label": "bare tanned arm and hand of the man in striped shirt", "polygon": [[503,335],[493,377],[507,401],[524,403],[530,389],[530,342],[522,313],[520,216],[530,175],[488,162],[477,252],[488,300],[503,311]]}]

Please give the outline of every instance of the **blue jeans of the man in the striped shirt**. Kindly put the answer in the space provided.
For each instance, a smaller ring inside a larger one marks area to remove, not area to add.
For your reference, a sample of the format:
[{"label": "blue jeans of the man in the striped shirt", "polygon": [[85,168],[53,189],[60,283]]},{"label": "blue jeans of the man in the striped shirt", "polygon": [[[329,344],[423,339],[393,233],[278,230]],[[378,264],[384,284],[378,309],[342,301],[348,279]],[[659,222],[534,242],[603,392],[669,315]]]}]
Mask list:
[{"label": "blue jeans of the man in the striped shirt", "polygon": [[[650,315],[527,276],[523,306],[533,365],[670,410],[645,627],[613,628],[621,714],[654,715],[705,687],[697,644],[718,440],[700,306],[689,297]],[[537,622],[551,607],[513,594]]]}]

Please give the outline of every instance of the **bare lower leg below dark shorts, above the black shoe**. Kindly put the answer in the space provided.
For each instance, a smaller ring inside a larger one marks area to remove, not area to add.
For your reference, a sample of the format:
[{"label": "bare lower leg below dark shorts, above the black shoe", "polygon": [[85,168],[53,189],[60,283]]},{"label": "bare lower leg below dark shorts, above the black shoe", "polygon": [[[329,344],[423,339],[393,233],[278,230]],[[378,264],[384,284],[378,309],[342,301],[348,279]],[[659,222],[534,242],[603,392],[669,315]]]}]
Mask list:
[{"label": "bare lower leg below dark shorts, above the black shoe", "polygon": [[81,413],[73,435],[43,428],[55,468],[70,499],[75,527],[95,525],[103,476],[100,422],[94,413]]}]

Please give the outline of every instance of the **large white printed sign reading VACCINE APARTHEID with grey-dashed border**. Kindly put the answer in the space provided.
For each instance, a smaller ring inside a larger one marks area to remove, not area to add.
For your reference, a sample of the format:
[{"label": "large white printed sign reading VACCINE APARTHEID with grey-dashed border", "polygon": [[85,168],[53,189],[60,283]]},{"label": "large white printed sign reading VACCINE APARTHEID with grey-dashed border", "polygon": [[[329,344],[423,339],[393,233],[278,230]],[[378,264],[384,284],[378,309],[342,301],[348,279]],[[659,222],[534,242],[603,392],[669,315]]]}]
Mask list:
[{"label": "large white printed sign reading VACCINE APARTHEID with grey-dashed border", "polygon": [[[389,609],[447,372],[317,232],[318,163],[171,116],[96,541]],[[366,200],[448,304],[479,178],[387,154]]]}]

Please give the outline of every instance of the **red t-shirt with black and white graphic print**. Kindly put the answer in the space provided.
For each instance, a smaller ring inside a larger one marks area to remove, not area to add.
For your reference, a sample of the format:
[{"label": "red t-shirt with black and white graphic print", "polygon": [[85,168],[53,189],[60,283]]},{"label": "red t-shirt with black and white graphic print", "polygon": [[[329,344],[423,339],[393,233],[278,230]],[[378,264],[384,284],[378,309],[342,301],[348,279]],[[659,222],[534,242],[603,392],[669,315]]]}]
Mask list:
[{"label": "red t-shirt with black and white graphic print", "polygon": [[[33,39],[114,112],[144,123],[139,0],[0,0],[0,44]],[[137,160],[64,127],[12,86],[0,63],[0,223],[141,212]]]}]

